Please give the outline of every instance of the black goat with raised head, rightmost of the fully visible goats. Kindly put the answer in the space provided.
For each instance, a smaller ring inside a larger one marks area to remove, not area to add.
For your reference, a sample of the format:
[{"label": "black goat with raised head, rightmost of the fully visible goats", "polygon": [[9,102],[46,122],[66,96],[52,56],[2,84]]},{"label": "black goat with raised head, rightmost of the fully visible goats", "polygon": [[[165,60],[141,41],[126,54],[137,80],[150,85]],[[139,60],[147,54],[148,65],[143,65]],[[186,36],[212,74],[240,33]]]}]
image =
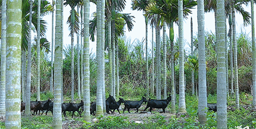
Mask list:
[{"label": "black goat with raised head, rightmost of the fully visible goats", "polygon": [[[165,113],[165,108],[167,107],[167,105],[169,104],[169,102],[170,102],[171,100],[172,100],[172,97],[171,97],[171,96],[169,96],[167,99],[162,99],[162,100],[149,99],[149,100],[148,100],[147,107],[144,109],[144,111],[147,110],[148,107],[150,107],[150,108],[149,108],[150,113],[152,113],[151,110],[152,110],[153,108],[162,108],[162,109],[163,109],[163,112]],[[162,112],[162,113],[163,113],[163,112]]]}]

